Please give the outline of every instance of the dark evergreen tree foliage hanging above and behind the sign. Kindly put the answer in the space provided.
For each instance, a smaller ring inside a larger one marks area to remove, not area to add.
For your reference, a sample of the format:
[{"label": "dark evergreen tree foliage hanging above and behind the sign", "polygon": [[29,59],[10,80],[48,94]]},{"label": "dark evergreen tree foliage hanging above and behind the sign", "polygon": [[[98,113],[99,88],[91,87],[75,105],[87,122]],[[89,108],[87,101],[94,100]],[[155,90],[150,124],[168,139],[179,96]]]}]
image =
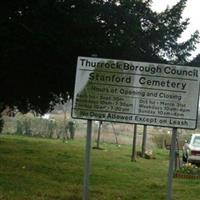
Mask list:
[{"label": "dark evergreen tree foliage hanging above and behind the sign", "polygon": [[73,95],[77,56],[185,63],[198,33],[178,43],[186,0],[162,13],[151,0],[0,3],[0,103],[44,113]]}]

